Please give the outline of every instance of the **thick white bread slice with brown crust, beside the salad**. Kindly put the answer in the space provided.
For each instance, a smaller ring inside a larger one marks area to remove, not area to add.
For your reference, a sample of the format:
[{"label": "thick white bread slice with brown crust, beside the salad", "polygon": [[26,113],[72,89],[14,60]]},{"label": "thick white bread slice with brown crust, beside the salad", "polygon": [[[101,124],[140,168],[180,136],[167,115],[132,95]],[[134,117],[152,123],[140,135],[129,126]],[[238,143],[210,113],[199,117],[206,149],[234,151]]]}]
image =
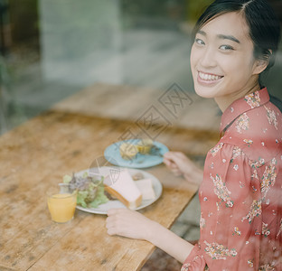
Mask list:
[{"label": "thick white bread slice with brown crust, beside the salad", "polygon": [[104,181],[105,190],[116,197],[131,210],[135,210],[142,202],[142,194],[132,180],[127,169],[120,170],[118,178],[110,180],[110,177]]}]

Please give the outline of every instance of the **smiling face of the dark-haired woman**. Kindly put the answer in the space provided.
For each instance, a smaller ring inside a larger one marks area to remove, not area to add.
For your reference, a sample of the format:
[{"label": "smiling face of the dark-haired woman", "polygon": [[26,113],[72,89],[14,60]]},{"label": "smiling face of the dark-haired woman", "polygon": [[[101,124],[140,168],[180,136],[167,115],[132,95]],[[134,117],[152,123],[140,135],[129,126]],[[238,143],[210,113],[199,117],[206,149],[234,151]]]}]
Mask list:
[{"label": "smiling face of the dark-haired woman", "polygon": [[194,88],[204,98],[248,92],[258,84],[249,26],[238,13],[222,14],[196,33],[191,51]]}]

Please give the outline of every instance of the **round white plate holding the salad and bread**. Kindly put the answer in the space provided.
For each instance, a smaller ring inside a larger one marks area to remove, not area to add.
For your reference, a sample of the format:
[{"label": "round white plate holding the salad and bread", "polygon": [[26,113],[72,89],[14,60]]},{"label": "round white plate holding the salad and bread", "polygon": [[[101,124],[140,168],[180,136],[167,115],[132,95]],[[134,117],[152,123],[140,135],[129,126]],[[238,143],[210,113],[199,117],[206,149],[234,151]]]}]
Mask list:
[{"label": "round white plate holding the salad and bread", "polygon": [[[119,169],[121,168],[116,166],[111,166],[111,167],[103,166],[99,168],[87,169],[79,173],[76,173],[76,175],[82,175],[83,173],[87,172],[87,173],[97,173],[97,174],[99,173],[101,175],[107,176],[110,173],[110,171],[112,170],[117,171]],[[141,210],[143,208],[146,208],[147,206],[151,205],[152,203],[154,203],[156,200],[159,199],[159,197],[163,192],[163,186],[162,183],[157,178],[155,178],[154,175],[150,173],[146,173],[145,171],[142,170],[132,169],[132,168],[128,168],[128,172],[130,173],[131,176],[136,173],[142,173],[145,179],[150,178],[152,180],[153,188],[155,191],[155,199],[142,201],[141,205],[138,206],[136,210]],[[81,206],[77,206],[76,208],[78,210],[84,210],[91,213],[107,214],[107,211],[110,209],[127,208],[127,207],[123,203],[117,200],[117,201],[108,201],[107,203],[100,204],[98,208],[83,208]]]}]

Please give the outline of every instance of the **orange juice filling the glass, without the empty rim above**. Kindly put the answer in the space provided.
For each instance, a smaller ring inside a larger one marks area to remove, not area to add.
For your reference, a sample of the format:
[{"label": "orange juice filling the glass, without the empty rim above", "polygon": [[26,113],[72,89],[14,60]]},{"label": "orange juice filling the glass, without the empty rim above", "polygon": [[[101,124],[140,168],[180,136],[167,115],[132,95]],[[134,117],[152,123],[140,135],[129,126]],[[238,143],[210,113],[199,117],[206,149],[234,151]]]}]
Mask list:
[{"label": "orange juice filling the glass, without the empty rim above", "polygon": [[48,197],[48,208],[52,220],[65,223],[73,218],[76,207],[76,193],[54,194]]}]

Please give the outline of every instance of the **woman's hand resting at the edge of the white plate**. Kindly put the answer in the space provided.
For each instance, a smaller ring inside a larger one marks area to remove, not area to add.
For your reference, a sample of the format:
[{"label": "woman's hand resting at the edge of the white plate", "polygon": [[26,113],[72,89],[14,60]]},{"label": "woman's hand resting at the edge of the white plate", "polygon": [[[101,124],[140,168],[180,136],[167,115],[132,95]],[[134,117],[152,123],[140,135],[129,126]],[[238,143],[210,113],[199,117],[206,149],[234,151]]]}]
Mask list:
[{"label": "woman's hand resting at the edge of the white plate", "polygon": [[147,219],[135,210],[108,210],[106,228],[109,235],[149,240],[154,226],[155,221]]}]

